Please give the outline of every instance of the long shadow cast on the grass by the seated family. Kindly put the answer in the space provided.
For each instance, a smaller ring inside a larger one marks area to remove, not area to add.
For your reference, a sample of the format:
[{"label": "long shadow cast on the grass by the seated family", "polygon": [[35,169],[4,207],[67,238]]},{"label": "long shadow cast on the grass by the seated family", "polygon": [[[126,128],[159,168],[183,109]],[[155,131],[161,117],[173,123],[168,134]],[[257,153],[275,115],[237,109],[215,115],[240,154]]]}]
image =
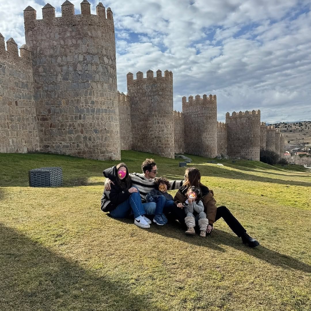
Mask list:
[{"label": "long shadow cast on the grass by the seated family", "polygon": [[[108,214],[107,214],[108,216]],[[133,223],[132,219],[120,219],[125,223]],[[178,221],[170,222],[165,226],[151,225],[149,231],[160,234],[162,236],[178,239],[188,244],[208,247],[219,252],[225,252],[221,245],[231,246],[239,251],[243,251],[253,257],[263,260],[273,266],[282,267],[285,269],[295,269],[302,272],[311,273],[311,266],[293,257],[280,254],[262,245],[256,248],[250,248],[242,244],[242,241],[234,233],[214,229],[212,234],[206,238],[201,238],[198,235],[188,236],[185,234],[185,229]],[[260,241],[259,241],[260,243]]]}]

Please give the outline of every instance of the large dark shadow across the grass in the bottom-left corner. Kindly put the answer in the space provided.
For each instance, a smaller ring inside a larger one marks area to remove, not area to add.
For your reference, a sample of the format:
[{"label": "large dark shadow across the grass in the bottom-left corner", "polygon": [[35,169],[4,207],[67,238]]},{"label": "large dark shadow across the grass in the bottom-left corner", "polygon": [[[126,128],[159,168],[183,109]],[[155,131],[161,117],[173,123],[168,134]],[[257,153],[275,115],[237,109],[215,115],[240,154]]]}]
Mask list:
[{"label": "large dark shadow across the grass in the bottom-left corner", "polygon": [[157,310],[127,284],[88,272],[2,224],[0,241],[0,305],[6,311]]}]

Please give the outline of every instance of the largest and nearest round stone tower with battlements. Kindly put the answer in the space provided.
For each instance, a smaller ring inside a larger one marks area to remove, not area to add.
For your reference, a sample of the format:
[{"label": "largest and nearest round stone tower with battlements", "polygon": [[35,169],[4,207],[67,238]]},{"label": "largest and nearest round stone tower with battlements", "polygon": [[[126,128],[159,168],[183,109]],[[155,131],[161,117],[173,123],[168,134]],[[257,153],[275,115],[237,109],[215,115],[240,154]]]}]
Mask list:
[{"label": "largest and nearest round stone tower with battlements", "polygon": [[113,14],[90,3],[82,14],[65,1],[62,17],[47,4],[43,19],[24,10],[32,51],[40,151],[100,160],[120,159]]}]

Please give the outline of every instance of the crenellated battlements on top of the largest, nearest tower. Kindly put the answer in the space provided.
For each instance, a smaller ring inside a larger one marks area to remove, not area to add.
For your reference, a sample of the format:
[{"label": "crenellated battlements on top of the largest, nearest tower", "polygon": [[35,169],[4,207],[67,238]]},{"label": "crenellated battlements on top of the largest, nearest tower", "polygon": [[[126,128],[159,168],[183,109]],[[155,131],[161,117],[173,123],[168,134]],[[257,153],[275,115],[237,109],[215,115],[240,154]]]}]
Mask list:
[{"label": "crenellated battlements on top of the largest, nearest tower", "polygon": [[[42,8],[42,19],[37,19],[37,12],[33,7],[26,7],[24,10],[24,24],[25,32],[42,28],[46,24],[47,26],[113,26],[114,20],[113,13],[110,7],[105,10],[104,5],[99,2],[96,6],[96,14],[91,14],[91,4],[87,0],[81,2],[81,14],[75,14],[74,5],[66,0],[61,5],[61,17],[55,17],[55,8],[47,3]],[[106,14],[107,13],[107,14]]]}]

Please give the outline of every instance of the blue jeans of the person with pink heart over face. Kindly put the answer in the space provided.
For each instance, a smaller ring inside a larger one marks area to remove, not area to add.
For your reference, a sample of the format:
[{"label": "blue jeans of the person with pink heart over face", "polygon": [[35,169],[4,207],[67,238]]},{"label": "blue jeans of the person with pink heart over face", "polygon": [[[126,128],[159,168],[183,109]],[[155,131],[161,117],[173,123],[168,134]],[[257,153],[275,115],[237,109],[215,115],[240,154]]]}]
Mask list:
[{"label": "blue jeans of the person with pink heart over face", "polygon": [[135,218],[146,214],[139,191],[131,193],[127,200],[119,204],[114,210],[110,211],[110,215],[114,218],[126,218],[130,214],[134,214]]}]

